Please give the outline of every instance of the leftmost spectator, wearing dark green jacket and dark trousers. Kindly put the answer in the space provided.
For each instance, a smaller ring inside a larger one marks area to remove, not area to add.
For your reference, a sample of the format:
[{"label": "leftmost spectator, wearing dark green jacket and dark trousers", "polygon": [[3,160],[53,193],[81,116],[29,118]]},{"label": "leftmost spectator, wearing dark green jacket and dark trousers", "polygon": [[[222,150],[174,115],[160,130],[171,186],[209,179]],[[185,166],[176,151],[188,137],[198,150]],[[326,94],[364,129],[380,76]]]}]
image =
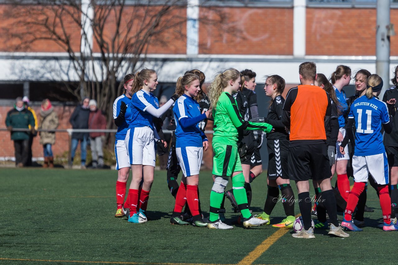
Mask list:
[{"label": "leftmost spectator, wearing dark green jacket and dark trousers", "polygon": [[[7,113],[6,126],[14,141],[15,164],[23,167],[28,157],[29,135],[35,133],[35,119],[32,112],[23,106],[21,97],[17,97],[14,108]],[[13,128],[30,129],[31,132],[17,132],[13,131]]]}]

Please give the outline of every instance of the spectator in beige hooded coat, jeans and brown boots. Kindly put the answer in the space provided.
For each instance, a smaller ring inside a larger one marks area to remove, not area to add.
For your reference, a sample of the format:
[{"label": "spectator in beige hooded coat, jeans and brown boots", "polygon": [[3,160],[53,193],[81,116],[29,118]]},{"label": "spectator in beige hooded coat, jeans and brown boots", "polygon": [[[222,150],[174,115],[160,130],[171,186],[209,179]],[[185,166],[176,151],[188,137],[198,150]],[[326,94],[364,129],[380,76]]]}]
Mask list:
[{"label": "spectator in beige hooded coat, jeans and brown boots", "polygon": [[[53,106],[49,99],[43,100],[40,110],[40,129],[57,129],[59,125],[58,115],[55,113]],[[55,144],[55,132],[39,132],[40,144],[43,145],[44,164],[43,167],[53,168],[54,157],[51,146]]]}]

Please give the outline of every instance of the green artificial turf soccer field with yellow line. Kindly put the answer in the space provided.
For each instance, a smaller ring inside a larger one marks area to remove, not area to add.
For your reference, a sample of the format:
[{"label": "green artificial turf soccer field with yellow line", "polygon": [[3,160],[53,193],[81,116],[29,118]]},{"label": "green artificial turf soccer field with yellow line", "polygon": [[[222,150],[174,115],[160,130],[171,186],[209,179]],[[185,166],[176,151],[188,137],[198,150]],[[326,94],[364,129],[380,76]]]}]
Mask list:
[{"label": "green artificial turf soccer field with yellow line", "polygon": [[[372,188],[367,205],[375,212],[365,213],[364,232],[335,238],[326,230],[315,230],[315,239],[304,240],[292,238],[293,230],[271,226],[209,230],[171,225],[174,198],[165,171],[155,172],[148,204],[152,221],[144,224],[113,217],[115,170],[2,168],[0,172],[0,264],[395,264],[398,233],[375,228],[382,214]],[[252,183],[255,213],[262,212],[265,176],[263,172]],[[211,172],[201,172],[200,199],[206,217],[211,186]],[[238,214],[227,202],[226,218],[231,223]],[[278,203],[271,223],[283,217]]]}]

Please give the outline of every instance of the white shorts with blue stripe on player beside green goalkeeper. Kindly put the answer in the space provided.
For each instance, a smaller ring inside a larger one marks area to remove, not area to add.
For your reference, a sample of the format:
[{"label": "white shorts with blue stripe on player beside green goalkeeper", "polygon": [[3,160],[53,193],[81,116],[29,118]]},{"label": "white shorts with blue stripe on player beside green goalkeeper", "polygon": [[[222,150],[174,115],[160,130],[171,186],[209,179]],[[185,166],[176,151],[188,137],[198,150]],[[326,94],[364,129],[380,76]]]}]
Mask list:
[{"label": "white shorts with blue stripe on player beside green goalkeeper", "polygon": [[176,155],[184,176],[199,174],[203,159],[203,147],[177,147]]}]

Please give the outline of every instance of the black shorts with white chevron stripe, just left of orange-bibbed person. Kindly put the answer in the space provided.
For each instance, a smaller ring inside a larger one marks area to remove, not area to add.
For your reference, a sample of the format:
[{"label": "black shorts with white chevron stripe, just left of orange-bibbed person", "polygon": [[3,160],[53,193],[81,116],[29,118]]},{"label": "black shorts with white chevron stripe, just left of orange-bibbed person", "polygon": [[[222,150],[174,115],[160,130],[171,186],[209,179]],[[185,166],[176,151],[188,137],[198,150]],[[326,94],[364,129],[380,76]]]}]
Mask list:
[{"label": "black shorts with white chevron stripe, just left of orange-bibbed person", "polygon": [[289,179],[287,174],[287,156],[289,155],[289,140],[267,140],[268,148],[268,179],[278,177]]}]

